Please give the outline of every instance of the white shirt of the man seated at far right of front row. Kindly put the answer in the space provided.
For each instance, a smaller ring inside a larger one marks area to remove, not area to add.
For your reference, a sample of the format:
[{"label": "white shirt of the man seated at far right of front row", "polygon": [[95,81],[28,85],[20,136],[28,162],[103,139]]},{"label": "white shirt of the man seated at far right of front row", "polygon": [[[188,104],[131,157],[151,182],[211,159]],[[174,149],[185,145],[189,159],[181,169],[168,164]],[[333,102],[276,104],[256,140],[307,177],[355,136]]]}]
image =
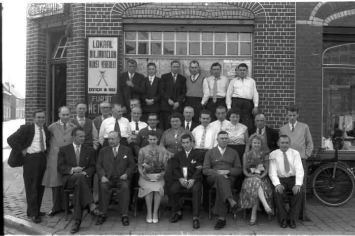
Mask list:
[{"label": "white shirt of the man seated at far right of front row", "polygon": [[302,186],[304,171],[300,153],[295,149],[289,148],[286,154],[290,164],[290,172],[288,173],[285,172],[283,153],[280,149],[272,151],[269,155],[269,177],[272,184],[277,186],[280,184],[279,178],[296,176],[296,185]]}]

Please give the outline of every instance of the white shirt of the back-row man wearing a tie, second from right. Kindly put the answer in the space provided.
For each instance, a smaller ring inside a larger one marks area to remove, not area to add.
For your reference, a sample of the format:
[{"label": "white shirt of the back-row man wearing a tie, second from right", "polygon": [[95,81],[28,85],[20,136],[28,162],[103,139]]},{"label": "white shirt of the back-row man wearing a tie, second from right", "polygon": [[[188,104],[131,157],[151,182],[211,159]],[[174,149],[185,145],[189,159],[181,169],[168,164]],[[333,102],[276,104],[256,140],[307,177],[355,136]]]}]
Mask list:
[{"label": "white shirt of the back-row man wearing a tie, second from right", "polygon": [[[217,98],[225,98],[228,88],[228,78],[226,76],[221,75],[220,79],[217,80]],[[206,77],[202,83],[202,102],[204,105],[206,101],[213,96],[213,88],[215,86],[215,76]]]}]

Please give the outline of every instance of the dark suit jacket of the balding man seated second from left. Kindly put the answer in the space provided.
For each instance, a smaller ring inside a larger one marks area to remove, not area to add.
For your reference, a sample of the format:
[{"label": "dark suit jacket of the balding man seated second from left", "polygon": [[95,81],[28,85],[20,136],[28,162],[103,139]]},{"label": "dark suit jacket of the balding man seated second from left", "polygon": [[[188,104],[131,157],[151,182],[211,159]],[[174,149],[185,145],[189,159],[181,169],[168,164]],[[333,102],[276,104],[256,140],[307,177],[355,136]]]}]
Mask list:
[{"label": "dark suit jacket of the balding man seated second from left", "polygon": [[[100,149],[96,161],[96,172],[98,179],[103,176],[110,179],[114,173],[114,153],[111,146],[105,146]],[[127,178],[131,179],[135,170],[135,162],[133,159],[132,151],[129,147],[120,144],[116,156],[116,170],[118,176],[127,174]]]}]

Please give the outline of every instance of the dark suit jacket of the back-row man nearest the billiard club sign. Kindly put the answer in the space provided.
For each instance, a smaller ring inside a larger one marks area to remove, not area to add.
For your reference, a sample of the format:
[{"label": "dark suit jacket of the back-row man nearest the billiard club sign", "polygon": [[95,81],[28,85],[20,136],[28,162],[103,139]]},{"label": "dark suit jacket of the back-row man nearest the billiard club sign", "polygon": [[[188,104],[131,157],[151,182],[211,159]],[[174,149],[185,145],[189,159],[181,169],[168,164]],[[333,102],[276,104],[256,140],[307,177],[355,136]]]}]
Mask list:
[{"label": "dark suit jacket of the back-row man nearest the billiard club sign", "polygon": [[127,86],[126,81],[129,81],[128,72],[121,73],[117,80],[118,91],[113,98],[113,103],[120,103],[122,106],[125,106],[127,112],[130,113],[129,99],[136,98],[140,101],[140,95],[145,93],[144,75],[138,72],[134,73],[132,78],[133,88]]}]

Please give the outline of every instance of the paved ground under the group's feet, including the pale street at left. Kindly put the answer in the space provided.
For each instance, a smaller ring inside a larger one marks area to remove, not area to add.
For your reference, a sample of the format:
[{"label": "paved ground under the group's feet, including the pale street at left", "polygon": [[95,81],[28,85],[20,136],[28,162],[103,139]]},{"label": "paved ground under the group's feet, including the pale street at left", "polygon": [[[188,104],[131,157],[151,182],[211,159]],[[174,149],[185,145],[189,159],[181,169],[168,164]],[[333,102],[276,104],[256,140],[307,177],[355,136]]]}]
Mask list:
[{"label": "paved ground under the group's feet, including the pale street at left", "polygon": [[[52,192],[50,188],[45,189],[41,211],[46,213],[42,217],[40,224],[34,224],[26,216],[26,197],[22,177],[22,168],[11,168],[7,162],[3,162],[4,173],[4,215],[5,225],[18,225],[30,228],[28,233],[36,234],[70,234],[70,227],[73,224],[72,215],[65,220],[64,213],[49,217],[48,212],[52,207]],[[94,198],[97,199],[97,192],[94,192]],[[355,198],[341,207],[328,207],[316,201],[312,196],[307,197],[307,213],[311,219],[310,222],[297,221],[297,228],[280,228],[277,223],[277,217],[273,216],[270,222],[267,216],[258,213],[257,224],[249,225],[250,215],[243,221],[242,213],[239,213],[237,220],[233,220],[230,214],[227,214],[227,225],[222,230],[214,230],[217,217],[208,220],[207,212],[201,209],[200,228],[192,228],[192,211],[184,205],[183,220],[177,223],[170,223],[171,211],[165,212],[167,198],[164,196],[162,202],[162,212],[159,223],[146,223],[146,210],[137,213],[133,218],[133,212],[129,212],[129,226],[123,226],[121,217],[118,213],[118,205],[111,205],[107,221],[102,225],[95,225],[95,220],[84,212],[80,231],[77,234],[355,234]],[[9,216],[6,216],[9,215]],[[14,218],[16,217],[16,218]],[[23,222],[27,221],[27,224]],[[21,223],[22,222],[22,223]],[[39,226],[40,225],[40,226]],[[46,230],[47,229],[47,230]]]}]

